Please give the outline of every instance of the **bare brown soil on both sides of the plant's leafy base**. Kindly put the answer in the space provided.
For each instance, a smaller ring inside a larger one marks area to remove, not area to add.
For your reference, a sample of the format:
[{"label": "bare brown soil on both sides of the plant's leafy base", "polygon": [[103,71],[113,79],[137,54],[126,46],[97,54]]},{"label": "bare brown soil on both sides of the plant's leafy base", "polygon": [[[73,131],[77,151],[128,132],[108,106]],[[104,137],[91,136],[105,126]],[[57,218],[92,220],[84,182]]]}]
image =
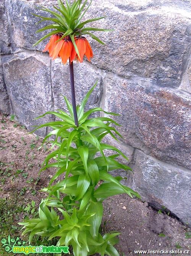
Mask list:
[{"label": "bare brown soil on both sides of the plant's leafy base", "polygon": [[[47,151],[49,144],[37,150],[41,143],[41,138],[28,134],[25,127],[0,114],[0,198],[9,198],[16,192],[21,201],[34,200],[38,207],[41,198],[45,197],[39,189],[46,187],[54,174],[53,170],[48,170],[38,175],[42,162],[50,153]],[[14,220],[15,226],[23,221],[24,213],[20,218]],[[104,201],[102,231],[113,230],[121,232],[116,246],[121,256],[138,255],[134,250],[149,249],[152,250],[150,254],[182,255],[181,251],[186,254],[191,249],[188,227],[151,208],[147,202],[125,194]],[[19,234],[20,230],[15,236]],[[174,252],[167,253],[167,250]]]}]

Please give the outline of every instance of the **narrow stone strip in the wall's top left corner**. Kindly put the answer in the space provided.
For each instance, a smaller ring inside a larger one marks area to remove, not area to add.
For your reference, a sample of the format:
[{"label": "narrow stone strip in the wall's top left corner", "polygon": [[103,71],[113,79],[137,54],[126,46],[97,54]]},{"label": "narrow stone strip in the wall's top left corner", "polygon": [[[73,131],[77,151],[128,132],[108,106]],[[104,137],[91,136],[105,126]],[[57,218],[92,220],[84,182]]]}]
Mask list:
[{"label": "narrow stone strip in the wall's top left corner", "polygon": [[0,0],[0,54],[11,52],[11,37],[7,5],[8,1]]}]

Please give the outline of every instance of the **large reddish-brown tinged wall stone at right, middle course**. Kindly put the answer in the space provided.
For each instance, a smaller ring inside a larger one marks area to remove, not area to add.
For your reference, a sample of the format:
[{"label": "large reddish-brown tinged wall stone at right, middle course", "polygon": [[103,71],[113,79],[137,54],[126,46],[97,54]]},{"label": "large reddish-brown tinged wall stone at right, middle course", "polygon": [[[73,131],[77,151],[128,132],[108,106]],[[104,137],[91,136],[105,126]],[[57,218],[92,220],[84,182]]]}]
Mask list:
[{"label": "large reddish-brown tinged wall stone at right, middle course", "polygon": [[[140,83],[140,84],[139,84]],[[190,99],[143,81],[106,80],[106,109],[115,117],[123,141],[163,161],[191,167]]]}]

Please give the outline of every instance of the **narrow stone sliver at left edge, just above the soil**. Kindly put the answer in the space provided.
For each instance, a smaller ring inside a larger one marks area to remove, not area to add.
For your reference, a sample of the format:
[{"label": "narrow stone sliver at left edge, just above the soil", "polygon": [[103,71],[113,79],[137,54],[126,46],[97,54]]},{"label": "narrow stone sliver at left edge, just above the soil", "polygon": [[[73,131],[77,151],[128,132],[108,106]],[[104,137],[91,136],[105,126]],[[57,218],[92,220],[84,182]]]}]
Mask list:
[{"label": "narrow stone sliver at left edge, just above the soil", "polygon": [[3,81],[3,73],[2,73],[2,63],[0,58],[0,112],[5,114],[10,114],[10,104],[9,104],[9,97],[6,92],[5,84]]}]

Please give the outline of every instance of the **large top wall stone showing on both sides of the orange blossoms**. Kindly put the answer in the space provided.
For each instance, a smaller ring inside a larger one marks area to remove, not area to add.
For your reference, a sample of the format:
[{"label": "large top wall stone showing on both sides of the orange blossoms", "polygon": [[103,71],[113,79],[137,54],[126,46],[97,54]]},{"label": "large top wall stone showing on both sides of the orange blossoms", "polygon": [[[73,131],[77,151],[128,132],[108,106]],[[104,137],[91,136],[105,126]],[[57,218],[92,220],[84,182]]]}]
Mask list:
[{"label": "large top wall stone showing on both sides of the orange blossoms", "polygon": [[[16,47],[32,49],[32,45],[47,33],[35,33],[48,23],[35,25],[40,18],[34,17],[32,12],[47,16],[48,13],[35,7],[42,4],[53,8],[55,3],[13,0],[10,17]],[[151,0],[141,3],[132,0],[125,3],[94,2],[84,19],[107,15],[107,18],[93,22],[92,26],[115,28],[115,31],[94,33],[106,43],[105,46],[89,38],[94,51],[92,63],[126,78],[143,76],[163,86],[178,87],[190,45],[190,21],[186,7],[189,5],[186,2],[182,5],[180,0],[161,3]],[[33,49],[42,51],[48,40]]]}]

